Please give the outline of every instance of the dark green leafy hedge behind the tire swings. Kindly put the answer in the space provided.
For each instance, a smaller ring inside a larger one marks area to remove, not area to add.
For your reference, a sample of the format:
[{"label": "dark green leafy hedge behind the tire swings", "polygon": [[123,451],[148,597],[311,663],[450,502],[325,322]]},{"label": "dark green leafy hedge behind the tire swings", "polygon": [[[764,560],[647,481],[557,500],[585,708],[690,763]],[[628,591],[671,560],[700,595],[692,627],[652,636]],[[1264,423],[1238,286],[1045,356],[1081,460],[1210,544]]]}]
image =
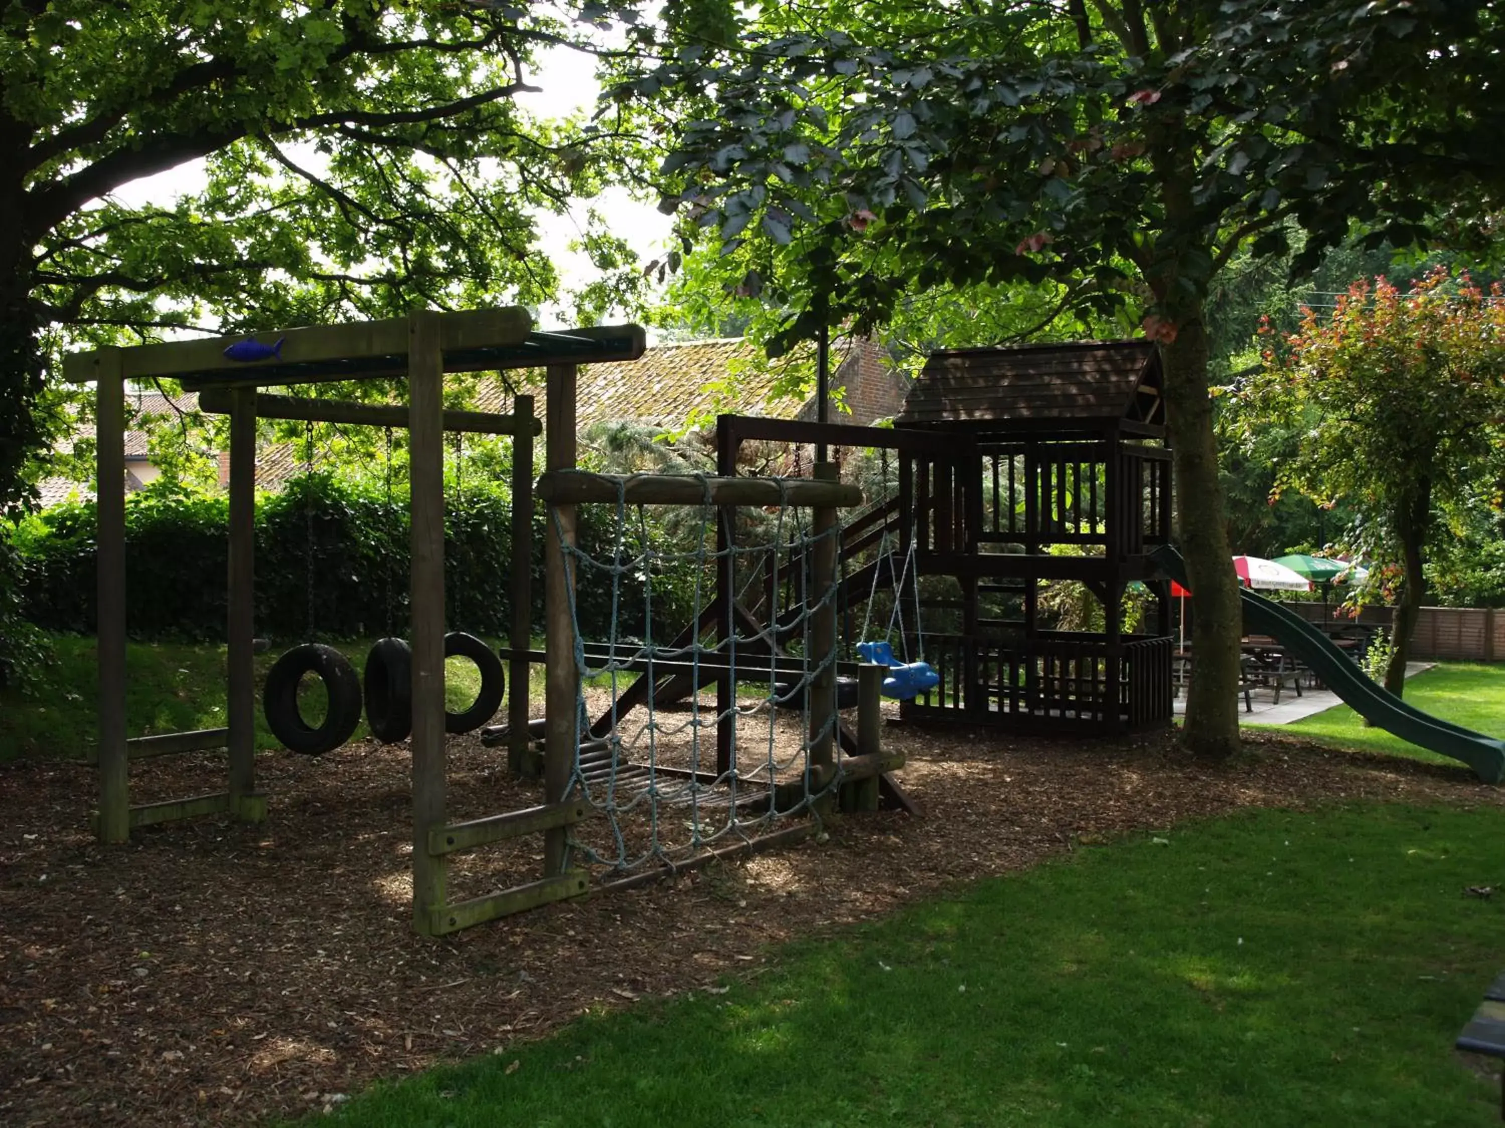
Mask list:
[{"label": "dark green leafy hedge behind the tire swings", "polygon": [[[221,641],[226,620],[227,499],[169,483],[129,495],[126,630],[137,639]],[[581,544],[610,552],[616,514],[581,507]],[[12,532],[20,603],[33,624],[92,635],[93,502],[59,505]],[[533,623],[543,627],[542,505],[533,514]],[[503,483],[467,478],[445,505],[445,599],[450,629],[504,636],[512,620],[512,504]],[[312,584],[310,584],[312,573]],[[310,602],[312,590],[312,602]],[[390,591],[390,600],[388,600]],[[655,633],[691,614],[694,576],[655,578]],[[643,633],[643,585],[623,584],[623,635]],[[582,584],[576,614],[587,636],[605,638],[611,590]],[[303,475],[256,505],[256,632],[275,639],[354,638],[408,629],[408,499],[381,487]]]}]

